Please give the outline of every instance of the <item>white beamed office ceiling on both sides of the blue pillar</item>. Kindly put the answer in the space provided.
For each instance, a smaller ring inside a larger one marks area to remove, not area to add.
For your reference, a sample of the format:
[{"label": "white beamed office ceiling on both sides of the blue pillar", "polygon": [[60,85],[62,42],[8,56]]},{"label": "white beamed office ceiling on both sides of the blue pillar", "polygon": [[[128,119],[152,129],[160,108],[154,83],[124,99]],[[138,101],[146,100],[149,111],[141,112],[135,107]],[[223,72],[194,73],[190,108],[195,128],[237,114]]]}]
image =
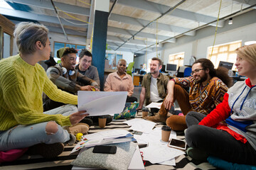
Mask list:
[{"label": "white beamed office ceiling on both sides of the blue pillar", "polygon": [[[92,35],[94,0],[53,0],[63,28],[50,0],[4,1],[14,9],[0,7],[0,13],[14,23],[37,21],[51,32],[65,32],[67,38]],[[215,27],[219,8],[218,27],[223,27],[225,20],[255,6],[255,0],[222,0],[221,6],[220,0],[110,0],[107,45],[138,55],[154,52],[180,36],[195,36],[198,29]]]}]

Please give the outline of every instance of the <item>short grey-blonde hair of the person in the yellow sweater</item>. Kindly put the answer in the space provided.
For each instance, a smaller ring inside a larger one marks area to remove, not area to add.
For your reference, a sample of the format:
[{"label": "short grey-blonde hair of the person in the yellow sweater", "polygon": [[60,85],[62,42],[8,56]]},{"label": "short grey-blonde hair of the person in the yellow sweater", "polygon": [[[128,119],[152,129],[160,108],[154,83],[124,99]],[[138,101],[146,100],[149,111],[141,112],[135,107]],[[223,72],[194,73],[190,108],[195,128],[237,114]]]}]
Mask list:
[{"label": "short grey-blonde hair of the person in the yellow sweater", "polygon": [[48,28],[38,23],[21,22],[16,25],[14,38],[21,54],[32,54],[36,51],[36,42],[46,46]]}]

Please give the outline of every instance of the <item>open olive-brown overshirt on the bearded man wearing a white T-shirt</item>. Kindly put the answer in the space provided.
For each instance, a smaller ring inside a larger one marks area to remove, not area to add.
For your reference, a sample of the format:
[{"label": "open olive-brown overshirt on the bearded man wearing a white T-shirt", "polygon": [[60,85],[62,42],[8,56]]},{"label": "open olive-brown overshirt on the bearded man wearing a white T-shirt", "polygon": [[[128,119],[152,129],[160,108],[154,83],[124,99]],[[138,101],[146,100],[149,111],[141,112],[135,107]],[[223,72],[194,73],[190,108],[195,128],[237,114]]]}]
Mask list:
[{"label": "open olive-brown overshirt on the bearded man wearing a white T-shirt", "polygon": [[[151,84],[151,73],[145,74],[142,79],[142,86],[146,89],[146,105],[149,105],[151,103],[150,100],[150,84]],[[157,77],[157,89],[159,92],[159,97],[164,98],[166,97],[167,93],[167,84],[169,81],[169,77],[166,77],[164,74],[159,74],[159,77]]]}]

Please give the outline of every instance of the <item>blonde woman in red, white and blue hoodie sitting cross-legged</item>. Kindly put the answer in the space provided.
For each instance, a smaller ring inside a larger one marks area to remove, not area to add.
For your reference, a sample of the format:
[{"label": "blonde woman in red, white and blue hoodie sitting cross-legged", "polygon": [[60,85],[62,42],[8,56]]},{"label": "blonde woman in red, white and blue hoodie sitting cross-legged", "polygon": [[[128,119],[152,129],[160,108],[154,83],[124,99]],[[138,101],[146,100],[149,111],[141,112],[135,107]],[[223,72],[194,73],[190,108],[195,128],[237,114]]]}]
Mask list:
[{"label": "blonde woman in red, white and blue hoodie sitting cross-legged", "polygon": [[225,94],[208,115],[186,116],[187,153],[193,159],[208,156],[228,162],[256,165],[256,44],[236,50],[235,66],[247,77]]}]

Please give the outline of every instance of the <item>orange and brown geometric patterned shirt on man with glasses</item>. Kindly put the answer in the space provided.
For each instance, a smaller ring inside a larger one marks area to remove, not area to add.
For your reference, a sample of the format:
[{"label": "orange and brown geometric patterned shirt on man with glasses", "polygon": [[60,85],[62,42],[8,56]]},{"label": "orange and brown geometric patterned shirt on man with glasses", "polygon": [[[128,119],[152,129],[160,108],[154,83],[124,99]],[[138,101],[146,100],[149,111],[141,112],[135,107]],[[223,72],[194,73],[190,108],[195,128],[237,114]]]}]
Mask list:
[{"label": "orange and brown geometric patterned shirt on man with glasses", "polygon": [[193,111],[208,115],[213,109],[223,101],[224,94],[228,91],[223,81],[218,77],[210,79],[205,87],[197,83],[193,77],[174,78],[175,84],[189,87],[189,103]]}]

